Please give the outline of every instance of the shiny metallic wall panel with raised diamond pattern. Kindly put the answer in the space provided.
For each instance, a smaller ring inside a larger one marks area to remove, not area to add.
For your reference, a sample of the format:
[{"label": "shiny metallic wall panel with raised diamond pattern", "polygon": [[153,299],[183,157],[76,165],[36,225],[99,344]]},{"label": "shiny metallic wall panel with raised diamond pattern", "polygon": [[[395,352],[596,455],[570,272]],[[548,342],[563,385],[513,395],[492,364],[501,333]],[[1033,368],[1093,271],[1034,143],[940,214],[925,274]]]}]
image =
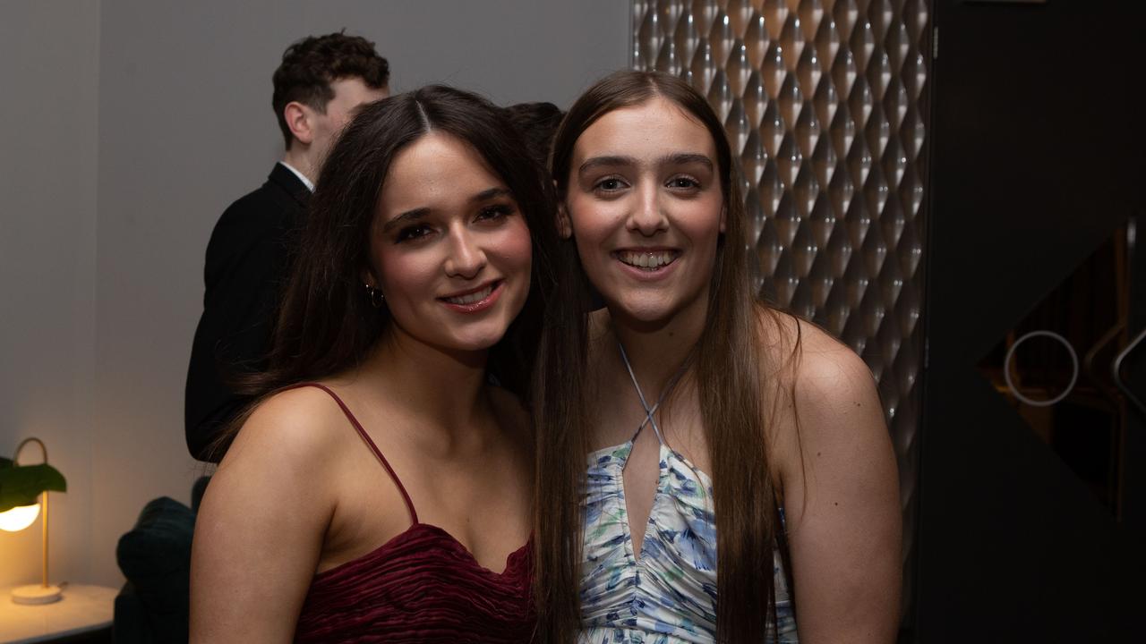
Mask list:
[{"label": "shiny metallic wall panel with raised diamond pattern", "polygon": [[[739,152],[756,285],[859,353],[900,464],[913,594],[927,0],[635,0],[633,66],[689,80]],[[908,615],[910,611],[904,611]]]}]

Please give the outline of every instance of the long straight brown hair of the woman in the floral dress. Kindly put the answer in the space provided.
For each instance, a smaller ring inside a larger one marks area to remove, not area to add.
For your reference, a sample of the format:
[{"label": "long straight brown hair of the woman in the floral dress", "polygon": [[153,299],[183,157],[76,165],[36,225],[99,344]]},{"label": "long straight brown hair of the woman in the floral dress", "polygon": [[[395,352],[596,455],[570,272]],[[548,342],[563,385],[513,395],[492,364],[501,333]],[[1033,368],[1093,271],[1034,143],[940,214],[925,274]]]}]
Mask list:
[{"label": "long straight brown hair of the woman in the floral dress", "polygon": [[[704,96],[683,80],[622,71],[590,87],[570,109],[554,142],[558,198],[568,187],[573,148],[602,116],[653,99],[700,121],[716,146],[727,209],[716,249],[708,313],[691,367],[699,386],[713,469],[717,535],[717,642],[763,642],[775,627],[772,557],[779,534],[776,490],[766,456],[764,396],[758,304],[746,257],[746,214],[728,139]],[[542,642],[572,642],[580,628],[582,508],[590,416],[587,392],[589,284],[573,239],[560,243],[554,297],[535,371],[537,473],[534,597]],[[767,309],[766,309],[767,311]],[[746,456],[747,455],[747,456]],[[766,556],[767,553],[767,556]]]}]

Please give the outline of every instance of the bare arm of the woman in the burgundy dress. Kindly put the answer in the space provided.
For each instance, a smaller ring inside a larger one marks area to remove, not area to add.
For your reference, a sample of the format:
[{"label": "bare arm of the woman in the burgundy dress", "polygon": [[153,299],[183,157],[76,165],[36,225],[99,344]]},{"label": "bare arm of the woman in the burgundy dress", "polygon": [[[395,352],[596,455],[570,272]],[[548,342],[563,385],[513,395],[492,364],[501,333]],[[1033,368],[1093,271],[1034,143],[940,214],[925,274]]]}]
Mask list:
[{"label": "bare arm of the woman in the burgundy dress", "polygon": [[333,509],[324,406],[317,390],[275,395],[211,478],[191,548],[191,643],[293,639]]}]

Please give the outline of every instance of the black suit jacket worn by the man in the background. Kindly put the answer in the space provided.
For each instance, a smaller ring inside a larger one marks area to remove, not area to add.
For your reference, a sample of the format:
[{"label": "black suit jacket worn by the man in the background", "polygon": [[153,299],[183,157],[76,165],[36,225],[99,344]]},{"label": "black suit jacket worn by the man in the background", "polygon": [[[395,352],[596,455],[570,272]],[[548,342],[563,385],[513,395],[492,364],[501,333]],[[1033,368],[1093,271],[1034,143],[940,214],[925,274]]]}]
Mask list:
[{"label": "black suit jacket worn by the man in the background", "polygon": [[282,164],[261,188],[233,203],[207,243],[203,315],[187,369],[183,417],[187,447],[201,461],[218,462],[212,443],[250,402],[228,382],[266,364],[291,245],[311,191]]}]

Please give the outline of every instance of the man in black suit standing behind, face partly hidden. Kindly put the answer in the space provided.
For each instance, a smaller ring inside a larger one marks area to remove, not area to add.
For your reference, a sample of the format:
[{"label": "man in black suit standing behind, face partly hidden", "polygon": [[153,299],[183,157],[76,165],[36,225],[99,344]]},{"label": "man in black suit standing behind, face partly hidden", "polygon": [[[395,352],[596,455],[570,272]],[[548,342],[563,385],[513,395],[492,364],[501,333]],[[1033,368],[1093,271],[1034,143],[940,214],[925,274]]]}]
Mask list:
[{"label": "man in black suit standing behind, face partly hidden", "polygon": [[286,150],[262,187],[222,213],[207,243],[183,410],[191,456],[222,457],[220,431],[250,402],[229,380],[265,366],[293,233],[322,162],[355,109],[385,99],[388,84],[388,63],[361,37],[312,36],[283,53],[272,104]]}]

